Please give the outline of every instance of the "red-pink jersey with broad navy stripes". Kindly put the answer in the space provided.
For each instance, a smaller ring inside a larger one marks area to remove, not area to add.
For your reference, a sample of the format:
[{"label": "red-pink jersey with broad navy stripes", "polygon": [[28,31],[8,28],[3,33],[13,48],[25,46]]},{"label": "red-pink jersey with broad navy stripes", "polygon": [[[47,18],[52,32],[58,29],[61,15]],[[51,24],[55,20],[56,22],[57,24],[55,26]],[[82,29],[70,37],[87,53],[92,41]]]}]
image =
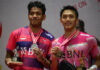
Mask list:
[{"label": "red-pink jersey with broad navy stripes", "polygon": [[[30,31],[30,28],[26,26],[13,31],[10,35],[7,50],[13,51],[16,48],[23,62],[23,66],[16,67],[14,70],[43,70],[44,68],[43,64],[36,59],[31,49],[33,41]],[[53,39],[53,35],[42,29],[37,45],[43,51],[44,57],[47,57]]]}]

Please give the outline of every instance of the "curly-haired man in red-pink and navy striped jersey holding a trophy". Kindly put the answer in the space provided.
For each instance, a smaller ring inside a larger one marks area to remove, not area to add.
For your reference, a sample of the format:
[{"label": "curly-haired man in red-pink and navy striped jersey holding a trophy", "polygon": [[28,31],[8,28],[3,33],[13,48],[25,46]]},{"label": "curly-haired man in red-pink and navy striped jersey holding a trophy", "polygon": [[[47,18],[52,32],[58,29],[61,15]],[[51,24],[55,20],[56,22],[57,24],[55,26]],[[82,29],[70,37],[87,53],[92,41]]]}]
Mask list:
[{"label": "curly-haired man in red-pink and navy striped jersey holding a trophy", "polygon": [[50,63],[49,50],[54,36],[42,28],[46,15],[40,1],[28,4],[29,26],[14,30],[7,44],[5,63],[13,70],[44,70]]}]

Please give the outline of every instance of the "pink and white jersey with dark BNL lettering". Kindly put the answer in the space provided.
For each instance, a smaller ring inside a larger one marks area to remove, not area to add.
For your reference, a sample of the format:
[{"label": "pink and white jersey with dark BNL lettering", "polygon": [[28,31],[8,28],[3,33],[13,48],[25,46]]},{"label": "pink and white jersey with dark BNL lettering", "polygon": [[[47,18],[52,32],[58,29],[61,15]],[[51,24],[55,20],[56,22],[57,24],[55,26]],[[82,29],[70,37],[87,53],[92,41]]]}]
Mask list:
[{"label": "pink and white jersey with dark BNL lettering", "polygon": [[[64,40],[64,35],[62,35],[54,40],[52,46],[59,46]],[[84,66],[88,68],[91,64],[91,56],[95,58],[99,54],[95,38],[83,32],[79,32],[75,38],[72,38],[64,47],[60,48],[65,52],[65,59],[76,67],[80,66],[80,59],[84,57],[82,59]]]}]

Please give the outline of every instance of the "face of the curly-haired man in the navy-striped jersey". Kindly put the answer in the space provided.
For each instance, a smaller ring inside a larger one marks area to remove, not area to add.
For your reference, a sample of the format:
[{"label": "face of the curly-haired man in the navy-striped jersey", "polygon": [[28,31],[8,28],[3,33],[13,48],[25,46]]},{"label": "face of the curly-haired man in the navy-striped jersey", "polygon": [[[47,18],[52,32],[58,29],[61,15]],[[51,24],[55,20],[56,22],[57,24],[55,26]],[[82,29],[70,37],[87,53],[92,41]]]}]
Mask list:
[{"label": "face of the curly-haired man in the navy-striped jersey", "polygon": [[45,15],[42,14],[40,8],[32,7],[28,14],[28,18],[32,26],[38,27],[41,26],[42,21],[45,19]]}]

